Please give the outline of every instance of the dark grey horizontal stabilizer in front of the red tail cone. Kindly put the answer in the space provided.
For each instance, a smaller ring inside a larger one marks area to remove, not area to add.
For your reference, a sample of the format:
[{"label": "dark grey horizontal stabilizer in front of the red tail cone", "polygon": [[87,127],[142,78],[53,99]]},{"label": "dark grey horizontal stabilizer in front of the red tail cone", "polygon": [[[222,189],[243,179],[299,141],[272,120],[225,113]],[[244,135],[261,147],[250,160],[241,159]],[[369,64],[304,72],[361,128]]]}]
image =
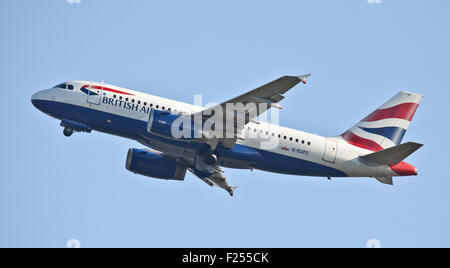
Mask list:
[{"label": "dark grey horizontal stabilizer in front of the red tail cone", "polygon": [[407,142],[379,152],[360,156],[360,158],[369,162],[392,166],[402,162],[422,146],[423,144]]}]

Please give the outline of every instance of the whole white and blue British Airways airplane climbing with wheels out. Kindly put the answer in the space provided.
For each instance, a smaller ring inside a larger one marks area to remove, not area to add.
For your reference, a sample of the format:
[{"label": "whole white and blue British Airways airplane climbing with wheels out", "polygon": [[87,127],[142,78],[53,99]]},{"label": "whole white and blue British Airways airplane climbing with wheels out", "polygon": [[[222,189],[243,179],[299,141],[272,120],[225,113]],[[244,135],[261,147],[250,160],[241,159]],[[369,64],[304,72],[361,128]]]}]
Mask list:
[{"label": "whole white and blue British Airways airplane climbing with wheels out", "polygon": [[[369,177],[388,185],[393,185],[393,177],[418,174],[417,168],[404,159],[422,144],[401,141],[422,100],[419,94],[399,92],[335,137],[259,120],[269,109],[279,111],[283,95],[299,83],[306,84],[309,76],[283,76],[209,108],[89,81],[58,84],[35,93],[31,101],[43,113],[60,120],[67,137],[95,130],[144,145],[144,149],[128,150],[125,166],[135,174],[183,181],[186,171],[190,171],[231,196],[236,187],[228,184],[223,168],[330,180]],[[201,128],[211,119],[214,109],[239,103],[254,106],[232,111],[231,116],[227,110],[226,116],[222,115],[228,121],[217,131],[226,131],[227,135],[211,136],[195,127],[194,122],[199,122]],[[184,123],[176,125],[180,120]],[[176,136],[174,129],[196,135]],[[275,143],[266,146],[267,140]]]}]

